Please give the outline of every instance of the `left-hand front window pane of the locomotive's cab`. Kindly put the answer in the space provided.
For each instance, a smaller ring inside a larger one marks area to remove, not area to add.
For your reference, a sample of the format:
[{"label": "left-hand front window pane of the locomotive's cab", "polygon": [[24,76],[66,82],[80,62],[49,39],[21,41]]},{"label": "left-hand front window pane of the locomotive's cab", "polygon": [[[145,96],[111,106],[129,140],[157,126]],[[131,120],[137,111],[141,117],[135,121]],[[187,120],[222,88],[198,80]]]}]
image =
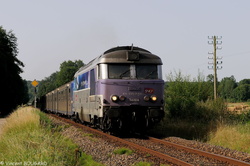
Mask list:
[{"label": "left-hand front window pane of the locomotive's cab", "polygon": [[108,77],[110,79],[130,78],[130,65],[129,64],[109,64]]}]

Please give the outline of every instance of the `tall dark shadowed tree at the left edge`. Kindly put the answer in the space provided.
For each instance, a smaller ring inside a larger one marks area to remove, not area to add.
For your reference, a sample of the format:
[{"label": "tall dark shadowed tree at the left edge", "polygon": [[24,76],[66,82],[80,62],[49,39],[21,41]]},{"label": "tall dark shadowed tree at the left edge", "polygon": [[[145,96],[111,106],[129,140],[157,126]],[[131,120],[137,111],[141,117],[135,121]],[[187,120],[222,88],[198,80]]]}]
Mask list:
[{"label": "tall dark shadowed tree at the left edge", "polygon": [[27,103],[27,87],[20,74],[23,62],[18,58],[17,38],[12,31],[0,26],[0,87],[2,87],[0,112],[8,114],[22,103]]}]

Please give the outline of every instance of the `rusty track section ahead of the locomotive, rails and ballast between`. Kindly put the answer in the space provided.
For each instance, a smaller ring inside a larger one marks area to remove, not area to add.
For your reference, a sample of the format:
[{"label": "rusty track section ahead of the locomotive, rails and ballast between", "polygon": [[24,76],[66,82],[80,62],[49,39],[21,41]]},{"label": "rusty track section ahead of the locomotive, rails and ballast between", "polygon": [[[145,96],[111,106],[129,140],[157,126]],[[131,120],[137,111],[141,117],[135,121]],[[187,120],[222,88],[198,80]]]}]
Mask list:
[{"label": "rusty track section ahead of the locomotive, rails and ballast between", "polygon": [[[179,145],[166,140],[161,140],[153,137],[147,139],[134,139],[128,140],[137,144],[143,144],[151,149],[156,149],[161,153],[167,153],[171,157],[178,158],[192,165],[242,165],[249,166],[249,162],[237,160],[234,158],[194,149],[188,146]],[[154,142],[154,143],[152,143]],[[176,152],[178,151],[178,152]],[[185,155],[183,155],[185,154]]]}]

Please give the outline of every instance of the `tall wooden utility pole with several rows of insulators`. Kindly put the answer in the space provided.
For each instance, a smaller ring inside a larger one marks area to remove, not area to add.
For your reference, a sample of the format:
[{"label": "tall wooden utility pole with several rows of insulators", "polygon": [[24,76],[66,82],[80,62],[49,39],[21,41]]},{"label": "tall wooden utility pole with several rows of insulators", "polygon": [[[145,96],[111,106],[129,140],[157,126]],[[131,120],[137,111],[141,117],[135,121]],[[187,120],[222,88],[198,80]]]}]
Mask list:
[{"label": "tall wooden utility pole with several rows of insulators", "polygon": [[219,66],[222,64],[222,61],[218,61],[221,60],[222,58],[218,58],[216,55],[216,51],[217,50],[221,50],[221,47],[218,47],[217,45],[221,45],[222,41],[218,41],[221,40],[222,37],[218,37],[218,36],[212,36],[209,37],[209,40],[212,41],[208,41],[208,44],[213,44],[214,46],[214,51],[213,52],[208,52],[208,54],[213,54],[213,57],[208,57],[208,59],[213,60],[213,62],[208,62],[209,65],[213,65],[212,67],[208,66],[208,69],[213,69],[214,70],[214,100],[216,100],[217,98],[217,69],[222,69],[222,66]]}]

